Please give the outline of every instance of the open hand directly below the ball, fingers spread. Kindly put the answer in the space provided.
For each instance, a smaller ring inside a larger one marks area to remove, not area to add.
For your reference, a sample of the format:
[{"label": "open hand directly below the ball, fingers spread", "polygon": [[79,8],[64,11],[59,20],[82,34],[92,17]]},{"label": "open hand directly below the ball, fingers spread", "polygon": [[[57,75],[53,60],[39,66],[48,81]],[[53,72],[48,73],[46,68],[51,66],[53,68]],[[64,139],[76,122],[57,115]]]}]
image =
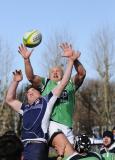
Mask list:
[{"label": "open hand directly below the ball, fingers spread", "polygon": [[29,51],[25,45],[21,44],[18,47],[18,52],[22,55],[24,59],[28,59],[31,56],[33,49]]}]

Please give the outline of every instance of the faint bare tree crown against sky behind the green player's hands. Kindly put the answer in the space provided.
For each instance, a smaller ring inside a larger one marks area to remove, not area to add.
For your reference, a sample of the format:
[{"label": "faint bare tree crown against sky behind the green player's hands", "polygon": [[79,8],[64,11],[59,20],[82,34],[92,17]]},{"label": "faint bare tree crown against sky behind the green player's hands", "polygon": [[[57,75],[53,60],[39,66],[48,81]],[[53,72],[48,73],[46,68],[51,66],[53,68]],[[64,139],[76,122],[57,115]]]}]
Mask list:
[{"label": "faint bare tree crown against sky behind the green player's hands", "polygon": [[72,37],[67,31],[55,31],[45,43],[45,49],[42,54],[43,57],[45,57],[46,62],[42,64],[45,71],[49,70],[53,66],[65,66],[66,60],[62,57],[62,50],[59,47],[63,42],[68,42],[73,45]]}]

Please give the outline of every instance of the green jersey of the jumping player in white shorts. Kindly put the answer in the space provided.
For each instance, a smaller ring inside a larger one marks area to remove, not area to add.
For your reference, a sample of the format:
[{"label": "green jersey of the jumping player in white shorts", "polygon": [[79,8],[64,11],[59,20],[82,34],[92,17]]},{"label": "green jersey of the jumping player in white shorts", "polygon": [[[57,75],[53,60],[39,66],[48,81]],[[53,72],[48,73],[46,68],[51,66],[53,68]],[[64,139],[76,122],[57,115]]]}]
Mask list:
[{"label": "green jersey of the jumping player in white shorts", "polygon": [[[42,95],[48,94],[53,88],[57,86],[57,82],[49,80],[45,86],[45,89]],[[73,112],[75,106],[75,85],[70,80],[68,85],[65,87],[64,91],[62,92],[60,98],[56,101],[51,120],[64,124],[68,127],[72,127],[73,125]]]}]

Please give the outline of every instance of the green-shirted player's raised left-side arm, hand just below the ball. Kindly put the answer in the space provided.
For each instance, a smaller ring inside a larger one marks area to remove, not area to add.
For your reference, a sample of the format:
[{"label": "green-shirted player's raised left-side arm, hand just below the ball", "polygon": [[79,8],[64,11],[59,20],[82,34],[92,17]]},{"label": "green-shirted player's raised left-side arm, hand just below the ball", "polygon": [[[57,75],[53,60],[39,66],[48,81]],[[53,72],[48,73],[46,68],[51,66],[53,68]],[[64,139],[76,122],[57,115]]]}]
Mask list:
[{"label": "green-shirted player's raised left-side arm, hand just below the ball", "polygon": [[38,86],[41,83],[41,78],[38,75],[34,75],[34,71],[30,62],[30,56],[33,52],[33,49],[29,51],[25,45],[21,44],[18,48],[18,52],[22,55],[24,59],[25,73],[27,79],[33,85]]}]

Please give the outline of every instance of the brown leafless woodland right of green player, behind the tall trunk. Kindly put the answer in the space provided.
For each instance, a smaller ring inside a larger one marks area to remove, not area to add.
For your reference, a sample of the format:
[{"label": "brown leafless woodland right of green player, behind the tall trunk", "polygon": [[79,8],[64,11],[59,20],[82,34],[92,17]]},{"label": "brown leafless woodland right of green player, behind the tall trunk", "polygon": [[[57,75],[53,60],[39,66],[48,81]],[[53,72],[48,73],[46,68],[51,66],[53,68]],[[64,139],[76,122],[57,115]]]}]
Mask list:
[{"label": "brown leafless woodland right of green player, behind the tall trunk", "polygon": [[[115,124],[115,82],[110,84],[110,103],[111,110],[109,114],[112,118],[112,125]],[[77,106],[74,112],[74,130],[75,133],[85,131],[91,134],[93,127],[99,128],[99,134],[102,135],[106,129],[104,117],[104,94],[103,82],[101,80],[87,80],[77,92]],[[87,122],[87,123],[86,123]]]}]

